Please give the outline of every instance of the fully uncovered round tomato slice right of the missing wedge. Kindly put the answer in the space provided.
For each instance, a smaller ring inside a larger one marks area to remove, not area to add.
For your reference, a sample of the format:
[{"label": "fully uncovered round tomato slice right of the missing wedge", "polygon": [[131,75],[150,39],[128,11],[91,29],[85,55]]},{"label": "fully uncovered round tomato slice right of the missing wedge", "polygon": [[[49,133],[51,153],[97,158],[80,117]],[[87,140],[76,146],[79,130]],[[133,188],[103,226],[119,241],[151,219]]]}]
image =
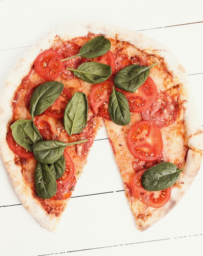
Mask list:
[{"label": "fully uncovered round tomato slice right of the missing wedge", "polygon": [[128,146],[134,157],[154,161],[163,149],[161,131],[151,121],[138,122],[128,132]]}]

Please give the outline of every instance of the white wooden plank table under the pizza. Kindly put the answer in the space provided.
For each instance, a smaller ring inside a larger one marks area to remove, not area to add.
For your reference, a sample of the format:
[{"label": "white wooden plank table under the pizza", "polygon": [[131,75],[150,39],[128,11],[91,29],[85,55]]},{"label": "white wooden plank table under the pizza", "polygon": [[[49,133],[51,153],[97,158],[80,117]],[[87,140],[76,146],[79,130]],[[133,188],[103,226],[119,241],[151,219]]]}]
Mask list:
[{"label": "white wooden plank table under the pizza", "polygon": [[[188,72],[203,124],[202,0],[0,0],[0,86],[31,45],[74,20],[140,31],[172,49]],[[0,162],[0,255],[203,255],[202,207],[203,165],[179,205],[147,231],[137,231],[101,129],[54,234],[22,207]]]}]

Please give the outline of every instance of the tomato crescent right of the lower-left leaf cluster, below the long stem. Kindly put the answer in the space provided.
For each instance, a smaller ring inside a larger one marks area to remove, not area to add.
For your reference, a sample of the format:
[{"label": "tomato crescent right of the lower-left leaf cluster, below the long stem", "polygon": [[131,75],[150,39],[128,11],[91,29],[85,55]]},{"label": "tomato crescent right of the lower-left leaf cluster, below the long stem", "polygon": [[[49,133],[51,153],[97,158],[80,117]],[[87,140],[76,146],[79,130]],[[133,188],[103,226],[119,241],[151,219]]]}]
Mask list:
[{"label": "tomato crescent right of the lower-left leaf cluster, below the long stem", "polygon": [[75,165],[66,150],[64,150],[64,157],[66,160],[66,169],[65,169],[64,175],[60,179],[57,180],[62,185],[65,185],[68,182],[70,182],[75,174]]}]

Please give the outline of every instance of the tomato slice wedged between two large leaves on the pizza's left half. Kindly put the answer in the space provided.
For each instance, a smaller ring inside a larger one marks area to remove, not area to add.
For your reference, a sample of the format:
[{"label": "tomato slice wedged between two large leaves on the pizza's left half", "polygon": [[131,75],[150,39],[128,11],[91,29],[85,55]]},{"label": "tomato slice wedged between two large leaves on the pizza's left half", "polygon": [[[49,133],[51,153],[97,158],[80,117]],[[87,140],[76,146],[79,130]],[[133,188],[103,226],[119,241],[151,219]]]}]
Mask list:
[{"label": "tomato slice wedged between two large leaves on the pizza's left half", "polygon": [[64,110],[71,97],[71,93],[64,88],[58,99],[51,105],[51,107],[44,111],[44,114],[48,115],[49,117],[63,118]]}]

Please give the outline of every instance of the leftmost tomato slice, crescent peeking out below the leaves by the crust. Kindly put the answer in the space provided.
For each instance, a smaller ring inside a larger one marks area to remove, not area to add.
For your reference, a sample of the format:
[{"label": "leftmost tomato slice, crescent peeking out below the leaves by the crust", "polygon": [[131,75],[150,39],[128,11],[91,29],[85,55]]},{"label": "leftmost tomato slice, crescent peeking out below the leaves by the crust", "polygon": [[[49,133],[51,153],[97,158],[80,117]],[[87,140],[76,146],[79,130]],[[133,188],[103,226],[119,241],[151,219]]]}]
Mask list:
[{"label": "leftmost tomato slice, crescent peeking out below the leaves by the crust", "polygon": [[18,145],[13,139],[12,130],[9,128],[9,132],[7,135],[7,143],[9,148],[13,151],[14,154],[18,155],[22,158],[31,158],[34,157],[33,152],[26,150],[22,146]]}]

